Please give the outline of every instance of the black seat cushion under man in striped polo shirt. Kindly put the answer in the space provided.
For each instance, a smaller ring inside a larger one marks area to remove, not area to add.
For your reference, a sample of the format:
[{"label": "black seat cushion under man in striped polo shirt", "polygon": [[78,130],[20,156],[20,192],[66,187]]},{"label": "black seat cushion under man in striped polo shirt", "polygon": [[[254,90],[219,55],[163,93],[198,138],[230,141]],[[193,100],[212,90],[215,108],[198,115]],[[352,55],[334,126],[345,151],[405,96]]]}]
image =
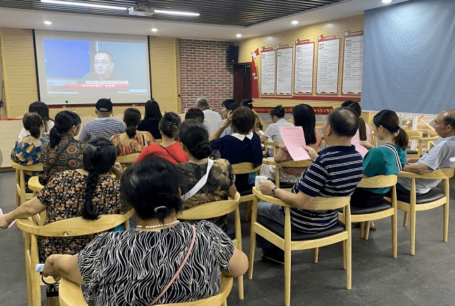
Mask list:
[{"label": "black seat cushion under man in striped polo shirt", "polygon": [[[258,222],[267,229],[270,229],[270,231],[273,231],[273,233],[277,234],[281,238],[285,237],[285,227],[279,224],[278,222],[267,219],[266,217],[259,216]],[[342,224],[342,222],[340,221],[337,221],[337,223],[334,226],[330,227],[330,229],[325,229],[324,231],[319,231],[318,233],[314,234],[302,233],[301,231],[296,231],[291,228],[291,240],[299,241],[324,238],[327,236],[332,236],[341,233],[342,231],[344,231],[344,224]]]}]

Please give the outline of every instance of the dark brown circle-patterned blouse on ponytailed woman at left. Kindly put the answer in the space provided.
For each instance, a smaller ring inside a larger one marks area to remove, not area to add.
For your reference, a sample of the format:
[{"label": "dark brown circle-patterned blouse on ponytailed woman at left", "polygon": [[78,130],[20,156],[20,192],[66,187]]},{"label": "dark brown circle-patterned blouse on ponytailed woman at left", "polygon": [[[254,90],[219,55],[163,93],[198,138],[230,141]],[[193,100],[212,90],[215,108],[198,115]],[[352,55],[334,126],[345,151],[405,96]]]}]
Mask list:
[{"label": "dark brown circle-patterned blouse on ponytailed woman at left", "polygon": [[[58,154],[63,151],[63,148],[66,147],[68,141],[70,141],[70,145],[56,161]],[[57,144],[54,148],[51,148],[49,142],[46,142],[41,150],[40,158],[40,161],[43,163],[44,175],[48,174],[50,168],[52,169],[49,180],[56,172],[81,169],[83,148],[84,143],[74,139],[73,136],[70,135],[63,135],[60,144]],[[54,165],[54,167],[52,167],[52,165]]]}]

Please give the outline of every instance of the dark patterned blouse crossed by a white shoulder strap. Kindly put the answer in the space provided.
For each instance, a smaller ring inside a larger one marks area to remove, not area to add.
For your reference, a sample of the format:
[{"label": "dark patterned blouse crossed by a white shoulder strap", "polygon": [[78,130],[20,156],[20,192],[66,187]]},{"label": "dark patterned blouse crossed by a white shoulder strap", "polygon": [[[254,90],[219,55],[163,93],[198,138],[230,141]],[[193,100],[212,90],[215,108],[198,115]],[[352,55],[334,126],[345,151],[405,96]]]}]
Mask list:
[{"label": "dark patterned blouse crossed by a white shoulder strap", "polygon": [[[207,172],[207,164],[197,165],[193,162],[185,162],[177,164],[175,167],[179,173],[182,195],[190,191]],[[234,183],[235,173],[230,162],[221,158],[213,160],[213,166],[208,174],[206,184],[194,196],[183,202],[183,209],[217,200],[228,200],[228,190]],[[218,227],[223,227],[226,224],[226,216],[213,218],[209,221]]]}]

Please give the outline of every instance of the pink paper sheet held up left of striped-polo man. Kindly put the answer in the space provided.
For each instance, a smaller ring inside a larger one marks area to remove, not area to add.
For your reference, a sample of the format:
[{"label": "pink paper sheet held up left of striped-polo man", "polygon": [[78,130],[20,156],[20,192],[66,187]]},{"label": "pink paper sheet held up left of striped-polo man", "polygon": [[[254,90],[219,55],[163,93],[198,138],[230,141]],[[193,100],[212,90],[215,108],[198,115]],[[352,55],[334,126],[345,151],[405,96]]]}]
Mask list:
[{"label": "pink paper sheet held up left of striped-polo man", "polygon": [[289,155],[295,161],[309,160],[310,155],[306,147],[304,129],[301,127],[280,127],[281,138],[285,143]]}]

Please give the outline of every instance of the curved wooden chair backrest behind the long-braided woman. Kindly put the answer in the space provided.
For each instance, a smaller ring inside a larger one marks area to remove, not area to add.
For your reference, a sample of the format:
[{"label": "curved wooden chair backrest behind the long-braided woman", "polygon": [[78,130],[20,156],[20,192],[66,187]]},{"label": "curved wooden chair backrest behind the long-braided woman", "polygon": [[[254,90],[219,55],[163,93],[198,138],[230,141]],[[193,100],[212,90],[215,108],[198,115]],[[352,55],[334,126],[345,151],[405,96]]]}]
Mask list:
[{"label": "curved wooden chair backrest behind the long-braided woman", "polygon": [[30,234],[47,237],[71,237],[96,234],[107,231],[120,224],[127,225],[133,215],[133,209],[123,215],[101,215],[98,219],[89,220],[74,217],[39,226],[32,219],[18,219],[18,228]]}]

